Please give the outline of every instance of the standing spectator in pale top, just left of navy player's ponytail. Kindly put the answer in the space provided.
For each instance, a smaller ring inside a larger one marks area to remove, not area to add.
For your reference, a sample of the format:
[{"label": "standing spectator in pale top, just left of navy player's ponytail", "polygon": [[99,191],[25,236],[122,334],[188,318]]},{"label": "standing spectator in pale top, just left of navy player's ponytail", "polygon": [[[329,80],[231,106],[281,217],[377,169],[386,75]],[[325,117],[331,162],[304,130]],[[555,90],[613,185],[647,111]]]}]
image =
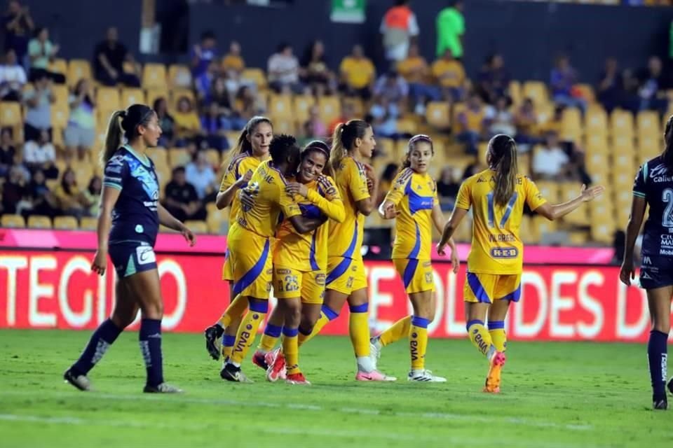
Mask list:
[{"label": "standing spectator in pale top, just left of navy player's ponytail", "polygon": [[79,160],[84,160],[96,139],[96,103],[89,80],[77,81],[69,102],[70,118],[64,132],[67,157],[72,158],[77,152]]}]

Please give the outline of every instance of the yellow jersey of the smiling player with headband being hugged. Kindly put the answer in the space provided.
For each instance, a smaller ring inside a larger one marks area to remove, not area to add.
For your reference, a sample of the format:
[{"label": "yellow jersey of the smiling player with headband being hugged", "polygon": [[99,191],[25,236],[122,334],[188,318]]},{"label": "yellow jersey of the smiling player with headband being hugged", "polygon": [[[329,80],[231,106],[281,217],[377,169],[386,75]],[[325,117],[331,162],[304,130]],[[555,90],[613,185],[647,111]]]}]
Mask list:
[{"label": "yellow jersey of the smiling player with headband being hugged", "polygon": [[[304,185],[308,188],[308,198],[301,196],[294,198],[299,205],[301,216],[320,218],[324,214],[337,222],[344,221],[344,204],[331,177],[321,176]],[[300,234],[292,223],[285,219],[276,232],[273,264],[292,267],[301,272],[324,271],[327,269],[328,233],[329,226],[324,223],[313,232]]]}]

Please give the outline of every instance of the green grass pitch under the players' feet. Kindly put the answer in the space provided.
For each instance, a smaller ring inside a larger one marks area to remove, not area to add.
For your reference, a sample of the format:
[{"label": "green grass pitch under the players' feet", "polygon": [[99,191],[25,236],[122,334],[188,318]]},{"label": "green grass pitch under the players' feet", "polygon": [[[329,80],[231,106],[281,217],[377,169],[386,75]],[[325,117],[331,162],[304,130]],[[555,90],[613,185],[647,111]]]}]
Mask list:
[{"label": "green grass pitch under the players' feet", "polygon": [[[136,333],[91,372],[96,391],[62,372],[90,332],[0,331],[0,447],[658,447],[671,414],[651,410],[644,345],[510,342],[503,392],[481,392],[487,364],[465,340],[431,339],[427,365],[444,384],[407,382],[405,342],[383,351],[395,383],[358,383],[346,337],[301,352],[311,386],[219,378],[201,335],[165,334],[167,381],[182,395],[141,393]],[[258,337],[259,339],[259,337]],[[250,353],[252,354],[252,353]]]}]

